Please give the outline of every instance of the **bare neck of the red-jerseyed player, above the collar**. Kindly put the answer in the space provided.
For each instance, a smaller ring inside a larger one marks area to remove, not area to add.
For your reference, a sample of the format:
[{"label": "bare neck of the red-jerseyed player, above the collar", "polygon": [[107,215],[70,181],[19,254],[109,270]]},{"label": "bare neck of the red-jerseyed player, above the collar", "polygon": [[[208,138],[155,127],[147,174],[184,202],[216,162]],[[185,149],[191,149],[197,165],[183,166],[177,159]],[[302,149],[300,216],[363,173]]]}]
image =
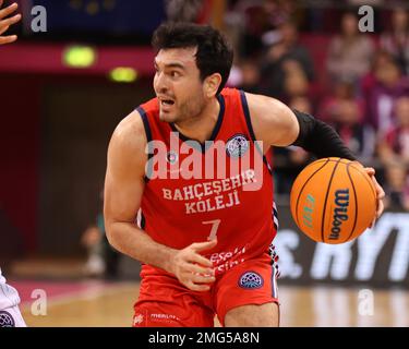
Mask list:
[{"label": "bare neck of the red-jerseyed player, above the collar", "polygon": [[176,122],[175,127],[187,137],[204,143],[210,139],[219,111],[220,105],[215,97],[197,116]]}]

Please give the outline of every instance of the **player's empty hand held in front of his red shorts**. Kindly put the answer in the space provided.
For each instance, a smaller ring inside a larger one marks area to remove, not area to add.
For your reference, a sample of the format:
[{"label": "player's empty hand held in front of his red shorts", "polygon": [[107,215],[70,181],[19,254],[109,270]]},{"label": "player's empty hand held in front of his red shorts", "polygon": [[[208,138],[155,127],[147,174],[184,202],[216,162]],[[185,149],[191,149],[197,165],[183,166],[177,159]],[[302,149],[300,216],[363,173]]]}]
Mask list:
[{"label": "player's empty hand held in front of his red shorts", "polygon": [[208,291],[215,278],[213,263],[200,254],[210,250],[217,244],[217,240],[195,242],[179,250],[172,258],[173,274],[179,281],[192,291]]}]

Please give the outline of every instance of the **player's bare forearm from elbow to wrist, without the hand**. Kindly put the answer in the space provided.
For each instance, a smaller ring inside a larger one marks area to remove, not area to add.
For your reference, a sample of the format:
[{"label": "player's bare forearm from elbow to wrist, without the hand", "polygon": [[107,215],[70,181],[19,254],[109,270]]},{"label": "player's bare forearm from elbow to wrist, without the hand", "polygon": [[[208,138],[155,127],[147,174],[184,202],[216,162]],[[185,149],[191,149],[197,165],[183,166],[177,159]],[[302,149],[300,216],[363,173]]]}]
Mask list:
[{"label": "player's bare forearm from elbow to wrist, without the hand", "polygon": [[177,250],[157,243],[134,224],[108,224],[107,238],[109,243],[123,254],[175,274],[171,261]]}]

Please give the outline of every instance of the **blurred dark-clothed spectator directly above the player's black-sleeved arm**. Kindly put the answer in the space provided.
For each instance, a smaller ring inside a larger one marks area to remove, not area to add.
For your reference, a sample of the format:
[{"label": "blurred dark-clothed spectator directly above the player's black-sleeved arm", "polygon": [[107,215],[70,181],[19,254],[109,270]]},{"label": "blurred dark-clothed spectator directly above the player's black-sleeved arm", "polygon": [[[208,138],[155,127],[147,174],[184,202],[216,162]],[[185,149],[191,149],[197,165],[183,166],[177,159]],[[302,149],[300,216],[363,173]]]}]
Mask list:
[{"label": "blurred dark-clothed spectator directly above the player's black-sleeved arm", "polygon": [[293,23],[281,24],[279,34],[280,40],[268,49],[262,69],[264,94],[279,99],[304,95],[314,77],[311,56],[299,44]]}]

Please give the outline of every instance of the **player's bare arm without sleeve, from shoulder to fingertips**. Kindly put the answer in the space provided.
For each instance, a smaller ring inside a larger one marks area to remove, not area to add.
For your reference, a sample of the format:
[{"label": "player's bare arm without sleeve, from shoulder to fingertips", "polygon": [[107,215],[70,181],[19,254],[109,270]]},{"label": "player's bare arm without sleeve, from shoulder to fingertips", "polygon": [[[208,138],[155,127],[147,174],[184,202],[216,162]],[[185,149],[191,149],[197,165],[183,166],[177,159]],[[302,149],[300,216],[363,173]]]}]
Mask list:
[{"label": "player's bare arm without sleeve, from shoulder to fingertips", "polygon": [[215,241],[175,250],[157,243],[135,224],[145,185],[145,146],[143,122],[134,111],[117,127],[108,148],[104,196],[107,238],[118,251],[175,274],[190,289],[207,290],[208,286],[201,284],[214,281],[203,276],[213,274],[212,262],[200,252],[215,246]]}]

